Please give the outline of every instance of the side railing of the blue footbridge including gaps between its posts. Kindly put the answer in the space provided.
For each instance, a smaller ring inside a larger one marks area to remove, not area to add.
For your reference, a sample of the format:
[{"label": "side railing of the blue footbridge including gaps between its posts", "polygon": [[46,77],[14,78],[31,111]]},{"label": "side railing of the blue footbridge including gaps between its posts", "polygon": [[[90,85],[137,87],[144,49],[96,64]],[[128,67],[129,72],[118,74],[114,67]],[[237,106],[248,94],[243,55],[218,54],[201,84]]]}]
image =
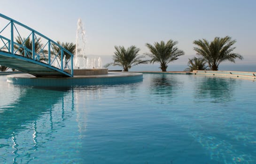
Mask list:
[{"label": "side railing of the blue footbridge including gaps between its posts", "polygon": [[[0,51],[47,64],[73,76],[73,54],[57,42],[5,15],[0,21]],[[4,22],[4,21],[3,21]],[[25,37],[23,37],[25,36]]]}]

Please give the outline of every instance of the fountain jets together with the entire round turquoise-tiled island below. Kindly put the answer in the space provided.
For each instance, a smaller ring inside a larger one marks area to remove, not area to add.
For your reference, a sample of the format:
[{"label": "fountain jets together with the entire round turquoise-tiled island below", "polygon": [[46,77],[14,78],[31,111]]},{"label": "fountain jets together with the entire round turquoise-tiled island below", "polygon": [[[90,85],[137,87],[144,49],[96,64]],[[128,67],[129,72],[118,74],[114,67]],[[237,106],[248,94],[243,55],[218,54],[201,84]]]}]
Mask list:
[{"label": "fountain jets together with the entire round turquoise-tiled island below", "polygon": [[[100,57],[85,56],[85,29],[81,19],[78,19],[76,53],[74,55],[73,77],[35,77],[30,74],[8,75],[7,81],[17,85],[35,87],[71,87],[87,85],[113,85],[132,82],[141,82],[141,73],[110,72],[102,68]],[[57,65],[59,59],[54,61]],[[64,67],[64,66],[63,66]]]}]

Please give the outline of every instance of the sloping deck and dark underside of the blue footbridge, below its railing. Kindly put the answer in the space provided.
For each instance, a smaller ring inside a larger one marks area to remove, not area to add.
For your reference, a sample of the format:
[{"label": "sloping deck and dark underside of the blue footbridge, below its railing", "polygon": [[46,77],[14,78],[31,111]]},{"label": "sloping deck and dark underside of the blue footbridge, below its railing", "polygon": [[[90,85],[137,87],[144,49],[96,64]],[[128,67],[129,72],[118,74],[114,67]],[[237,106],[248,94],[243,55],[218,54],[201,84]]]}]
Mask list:
[{"label": "sloping deck and dark underside of the blue footbridge, below its railing", "polygon": [[58,68],[49,67],[46,63],[19,55],[11,55],[3,51],[0,51],[0,65],[15,68],[36,77],[68,77],[68,75],[59,72]]}]

